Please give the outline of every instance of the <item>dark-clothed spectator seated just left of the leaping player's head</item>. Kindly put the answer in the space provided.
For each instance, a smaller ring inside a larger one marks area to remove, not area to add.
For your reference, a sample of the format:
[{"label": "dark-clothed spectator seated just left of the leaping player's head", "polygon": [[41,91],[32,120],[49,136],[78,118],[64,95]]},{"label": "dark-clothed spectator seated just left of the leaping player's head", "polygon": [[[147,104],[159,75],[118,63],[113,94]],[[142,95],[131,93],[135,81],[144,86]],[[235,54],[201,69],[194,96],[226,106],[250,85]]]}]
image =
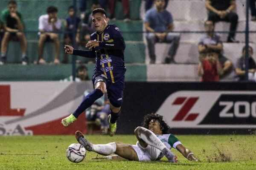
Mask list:
[{"label": "dark-clothed spectator seated just left of the leaping player's head", "polygon": [[76,42],[83,47],[85,47],[87,42],[90,40],[90,35],[96,31],[92,20],[92,11],[96,8],[101,8],[101,6],[98,1],[93,1],[90,10],[87,10],[84,14],[81,28],[77,30]]}]

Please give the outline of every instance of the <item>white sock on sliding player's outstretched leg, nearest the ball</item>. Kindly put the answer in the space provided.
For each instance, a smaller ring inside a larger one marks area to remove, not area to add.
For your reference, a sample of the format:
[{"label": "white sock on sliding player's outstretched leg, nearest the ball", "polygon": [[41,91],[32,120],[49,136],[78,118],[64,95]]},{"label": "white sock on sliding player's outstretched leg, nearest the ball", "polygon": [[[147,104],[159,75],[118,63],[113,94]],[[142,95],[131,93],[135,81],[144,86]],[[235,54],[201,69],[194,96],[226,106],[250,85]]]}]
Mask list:
[{"label": "white sock on sliding player's outstretched leg, nearest the ball", "polygon": [[105,156],[110,155],[111,153],[116,152],[116,143],[93,144],[93,151]]}]

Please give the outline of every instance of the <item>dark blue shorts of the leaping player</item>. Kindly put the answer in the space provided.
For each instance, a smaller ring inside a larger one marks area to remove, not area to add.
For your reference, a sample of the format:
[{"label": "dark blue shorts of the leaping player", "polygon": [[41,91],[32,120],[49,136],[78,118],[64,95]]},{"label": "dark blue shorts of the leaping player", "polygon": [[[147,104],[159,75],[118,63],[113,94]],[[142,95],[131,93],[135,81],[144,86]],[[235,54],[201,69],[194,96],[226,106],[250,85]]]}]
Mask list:
[{"label": "dark blue shorts of the leaping player", "polygon": [[108,77],[104,74],[93,75],[93,86],[97,82],[105,82],[107,86],[108,99],[111,105],[119,108],[122,105],[123,94],[125,90],[125,76],[123,76],[118,82],[112,83],[108,81]]}]

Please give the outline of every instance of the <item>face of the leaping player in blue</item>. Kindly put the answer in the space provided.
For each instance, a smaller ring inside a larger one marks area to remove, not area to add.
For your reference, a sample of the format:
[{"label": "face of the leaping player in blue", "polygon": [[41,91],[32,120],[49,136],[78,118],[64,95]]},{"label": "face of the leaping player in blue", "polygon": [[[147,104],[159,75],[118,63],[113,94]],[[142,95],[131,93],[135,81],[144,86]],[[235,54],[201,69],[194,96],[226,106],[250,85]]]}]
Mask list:
[{"label": "face of the leaping player in blue", "polygon": [[93,15],[93,26],[96,31],[102,33],[108,25],[108,18],[102,13],[96,13]]}]

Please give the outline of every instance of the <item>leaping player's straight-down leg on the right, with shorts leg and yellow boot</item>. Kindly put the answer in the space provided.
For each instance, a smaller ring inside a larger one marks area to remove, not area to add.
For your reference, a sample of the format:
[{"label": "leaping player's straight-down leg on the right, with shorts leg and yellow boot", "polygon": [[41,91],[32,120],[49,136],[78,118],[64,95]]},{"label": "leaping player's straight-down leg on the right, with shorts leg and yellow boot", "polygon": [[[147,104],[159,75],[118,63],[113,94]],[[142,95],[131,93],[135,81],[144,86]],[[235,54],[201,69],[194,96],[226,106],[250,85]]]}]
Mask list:
[{"label": "leaping player's straight-down leg on the right, with shorts leg and yellow boot", "polygon": [[124,78],[108,86],[108,99],[110,102],[110,116],[108,133],[113,136],[116,133],[116,121],[119,118],[125,89]]}]

